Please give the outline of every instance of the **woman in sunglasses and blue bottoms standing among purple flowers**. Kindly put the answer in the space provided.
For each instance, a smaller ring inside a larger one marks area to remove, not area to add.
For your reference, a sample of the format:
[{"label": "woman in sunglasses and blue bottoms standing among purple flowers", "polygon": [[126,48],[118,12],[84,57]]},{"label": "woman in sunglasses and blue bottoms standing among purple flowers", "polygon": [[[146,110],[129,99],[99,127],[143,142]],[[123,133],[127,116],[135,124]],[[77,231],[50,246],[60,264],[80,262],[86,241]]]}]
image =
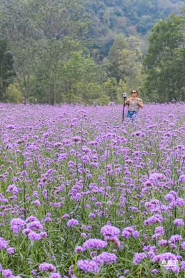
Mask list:
[{"label": "woman in sunglasses and blue bottoms standing among purple flowers", "polygon": [[139,109],[143,108],[143,100],[138,97],[138,90],[131,90],[131,96],[127,97],[124,105],[128,106],[127,117],[133,119],[133,117],[138,115]]}]

